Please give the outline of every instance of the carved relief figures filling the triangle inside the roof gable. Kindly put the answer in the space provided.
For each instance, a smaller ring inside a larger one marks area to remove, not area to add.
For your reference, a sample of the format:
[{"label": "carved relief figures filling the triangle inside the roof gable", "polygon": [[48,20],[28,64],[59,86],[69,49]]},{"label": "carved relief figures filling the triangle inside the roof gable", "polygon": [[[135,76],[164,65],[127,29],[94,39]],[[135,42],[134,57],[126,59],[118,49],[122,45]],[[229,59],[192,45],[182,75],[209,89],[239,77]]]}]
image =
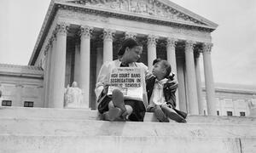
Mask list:
[{"label": "carved relief figures filling the triangle inside the roof gable", "polygon": [[160,3],[157,0],[73,0],[68,3],[77,3],[94,8],[114,9],[119,12],[150,15],[167,20],[179,20],[197,25],[205,25],[200,20],[195,20],[189,15],[183,14],[177,9]]}]

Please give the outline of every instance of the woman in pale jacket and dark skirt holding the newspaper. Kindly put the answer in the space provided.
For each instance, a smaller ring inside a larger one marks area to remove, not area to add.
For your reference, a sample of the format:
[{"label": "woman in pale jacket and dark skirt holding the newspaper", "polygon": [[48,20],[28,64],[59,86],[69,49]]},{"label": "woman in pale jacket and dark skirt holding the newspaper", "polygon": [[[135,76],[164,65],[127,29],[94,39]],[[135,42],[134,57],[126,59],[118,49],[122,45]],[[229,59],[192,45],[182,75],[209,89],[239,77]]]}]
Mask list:
[{"label": "woman in pale jacket and dark skirt holding the newspaper", "polygon": [[[96,83],[96,98],[98,102],[98,111],[103,115],[103,120],[109,121],[130,121],[143,122],[148,99],[146,94],[145,76],[148,74],[148,67],[143,63],[137,63],[140,59],[143,49],[138,43],[127,38],[119,49],[119,59],[106,62],[102,65],[101,71]],[[109,97],[108,86],[110,72],[117,67],[137,67],[143,70],[143,101],[134,99],[124,99],[124,95],[119,89],[114,89],[112,97]]]}]

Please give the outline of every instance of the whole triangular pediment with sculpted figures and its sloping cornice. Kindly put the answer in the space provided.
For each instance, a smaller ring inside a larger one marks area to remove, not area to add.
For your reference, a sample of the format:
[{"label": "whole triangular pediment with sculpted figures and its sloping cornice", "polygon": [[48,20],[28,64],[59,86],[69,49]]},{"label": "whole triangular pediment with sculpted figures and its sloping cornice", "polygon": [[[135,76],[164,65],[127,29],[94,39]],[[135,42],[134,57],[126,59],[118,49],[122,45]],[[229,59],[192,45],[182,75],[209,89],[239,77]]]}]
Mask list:
[{"label": "whole triangular pediment with sculpted figures and its sloping cornice", "polygon": [[197,26],[217,27],[213,22],[190,12],[168,0],[69,0],[67,3],[114,10],[117,13],[131,13],[161,20],[188,23]]}]

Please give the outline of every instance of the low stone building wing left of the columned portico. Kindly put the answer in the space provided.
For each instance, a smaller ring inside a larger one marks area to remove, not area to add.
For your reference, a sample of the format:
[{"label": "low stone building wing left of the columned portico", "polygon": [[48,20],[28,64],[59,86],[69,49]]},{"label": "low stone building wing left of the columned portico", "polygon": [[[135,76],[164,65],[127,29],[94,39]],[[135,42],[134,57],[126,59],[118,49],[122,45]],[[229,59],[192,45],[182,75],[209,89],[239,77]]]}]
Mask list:
[{"label": "low stone building wing left of the columned portico", "polygon": [[29,65],[0,64],[1,105],[44,107],[44,71]]}]

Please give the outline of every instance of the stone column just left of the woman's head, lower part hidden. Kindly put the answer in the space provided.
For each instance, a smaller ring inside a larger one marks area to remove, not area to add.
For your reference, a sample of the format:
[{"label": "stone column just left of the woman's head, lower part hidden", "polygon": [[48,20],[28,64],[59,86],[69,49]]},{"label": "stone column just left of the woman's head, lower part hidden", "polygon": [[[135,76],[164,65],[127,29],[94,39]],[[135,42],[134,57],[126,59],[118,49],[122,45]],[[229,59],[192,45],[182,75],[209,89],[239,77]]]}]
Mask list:
[{"label": "stone column just left of the woman's head, lower part hidden", "polygon": [[113,30],[103,30],[103,63],[113,60]]}]

